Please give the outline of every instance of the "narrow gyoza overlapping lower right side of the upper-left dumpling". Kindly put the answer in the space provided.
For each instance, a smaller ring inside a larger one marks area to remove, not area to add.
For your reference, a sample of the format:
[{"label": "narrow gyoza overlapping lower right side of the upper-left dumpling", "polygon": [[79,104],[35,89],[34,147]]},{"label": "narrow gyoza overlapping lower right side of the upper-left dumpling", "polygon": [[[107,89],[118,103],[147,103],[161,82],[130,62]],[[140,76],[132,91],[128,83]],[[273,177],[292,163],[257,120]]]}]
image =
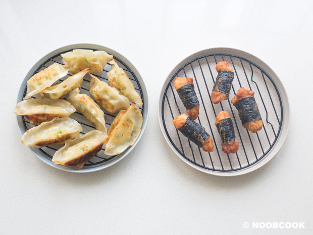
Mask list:
[{"label": "narrow gyoza overlapping lower right side of the upper-left dumpling", "polygon": [[80,71],[79,73],[76,73],[68,77],[63,82],[60,82],[53,86],[45,88],[40,93],[46,96],[47,98],[50,98],[53,100],[63,98],[65,95],[70,93],[73,89],[81,88],[84,76],[86,75],[88,70],[89,69],[84,69],[83,71]]}]

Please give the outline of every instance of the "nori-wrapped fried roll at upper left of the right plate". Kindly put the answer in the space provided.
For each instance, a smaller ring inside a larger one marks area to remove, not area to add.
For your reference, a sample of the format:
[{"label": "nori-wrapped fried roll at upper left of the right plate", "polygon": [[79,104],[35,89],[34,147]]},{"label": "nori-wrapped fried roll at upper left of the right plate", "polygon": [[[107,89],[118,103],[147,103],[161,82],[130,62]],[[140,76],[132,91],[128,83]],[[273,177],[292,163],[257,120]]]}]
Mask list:
[{"label": "nori-wrapped fried roll at upper left of the right plate", "polygon": [[188,116],[195,120],[199,115],[199,101],[194,91],[193,79],[191,77],[177,77],[174,81],[175,89],[183,102]]}]

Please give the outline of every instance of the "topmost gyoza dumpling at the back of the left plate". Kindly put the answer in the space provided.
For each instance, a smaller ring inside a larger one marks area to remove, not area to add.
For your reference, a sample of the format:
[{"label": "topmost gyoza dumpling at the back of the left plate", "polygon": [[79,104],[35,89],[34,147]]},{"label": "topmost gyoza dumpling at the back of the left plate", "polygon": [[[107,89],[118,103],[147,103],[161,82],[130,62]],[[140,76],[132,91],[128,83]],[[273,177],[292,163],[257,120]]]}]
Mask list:
[{"label": "topmost gyoza dumpling at the back of the left plate", "polygon": [[78,73],[79,71],[89,68],[89,73],[100,73],[106,64],[113,59],[103,51],[76,49],[73,52],[61,54],[63,62],[71,73]]}]

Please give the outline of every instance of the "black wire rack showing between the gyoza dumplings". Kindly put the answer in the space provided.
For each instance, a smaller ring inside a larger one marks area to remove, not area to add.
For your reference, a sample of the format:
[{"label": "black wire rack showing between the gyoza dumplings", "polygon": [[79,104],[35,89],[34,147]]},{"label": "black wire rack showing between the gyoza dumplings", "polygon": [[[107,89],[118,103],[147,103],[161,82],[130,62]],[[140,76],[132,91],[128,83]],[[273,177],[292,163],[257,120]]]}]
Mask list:
[{"label": "black wire rack showing between the gyoza dumplings", "polygon": [[[77,48],[77,49],[86,49],[86,48]],[[61,54],[63,53],[67,53],[67,52],[71,52],[72,50],[67,50],[61,53],[56,54],[53,57],[48,58],[44,63],[42,63],[36,70],[35,72],[30,76],[32,77],[35,73],[47,68],[48,66],[50,66],[51,64],[54,63],[59,63],[59,64],[64,64],[62,62],[62,57]],[[87,50],[92,50],[92,51],[96,51],[94,49],[87,49]],[[119,58],[115,57],[113,55],[115,61],[117,62],[117,64],[119,65],[119,67],[123,68],[123,70],[125,71],[125,73],[127,74],[127,76],[129,77],[129,79],[131,80],[132,84],[134,85],[135,90],[139,93],[141,100],[142,100],[142,107],[138,107],[141,110],[141,114],[142,116],[144,116],[144,99],[143,99],[143,93],[142,93],[142,89],[140,86],[140,83],[136,77],[136,75],[134,74],[134,72],[127,66],[126,63],[124,63],[122,60],[120,60]],[[107,64],[105,66],[105,68],[103,68],[103,71],[101,73],[94,73],[93,75],[98,77],[99,80],[102,81],[106,81],[108,83],[108,78],[107,78],[107,72],[109,72],[111,69],[111,65]],[[66,78],[68,78],[69,76],[71,76],[73,74],[68,73],[68,75],[66,77],[63,77],[62,79],[59,79],[56,83],[58,82],[62,82],[64,81]],[[29,77],[29,78],[30,78]],[[87,78],[88,77],[88,78]],[[28,78],[28,79],[29,79]],[[91,96],[91,94],[89,93],[89,83],[90,83],[90,76],[86,75],[83,79],[83,84],[82,87],[80,89],[80,93],[86,93],[91,99],[93,99],[93,97]],[[24,90],[24,94],[23,94],[23,98],[26,96],[26,90],[27,90],[27,86],[25,87]],[[36,98],[37,96],[39,96],[38,94],[33,96],[32,98]],[[66,98],[64,98],[66,100]],[[94,100],[94,99],[93,99]],[[94,102],[96,102],[94,100]],[[109,112],[107,112],[105,109],[103,109],[100,105],[99,107],[101,108],[101,110],[105,113],[105,120],[106,120],[106,125],[107,125],[107,129],[110,127],[110,125],[112,124],[114,118],[116,117],[116,114],[111,114]],[[73,114],[71,114],[70,116],[71,118],[75,119],[79,124],[81,124],[81,126],[83,127],[83,130],[80,132],[81,134],[85,134],[88,131],[94,130],[95,127],[93,127],[91,125],[91,123],[83,116],[82,113],[80,112],[75,112]],[[32,125],[29,123],[28,120],[26,120],[24,118],[24,116],[22,116],[22,121],[23,121],[23,125],[25,128],[25,131],[34,127],[35,125]],[[44,156],[46,156],[48,159],[52,159],[53,155],[55,154],[55,152],[57,150],[59,150],[60,148],[62,148],[64,145],[62,146],[46,146],[43,148],[40,148],[39,150],[43,153]],[[98,165],[104,162],[107,162],[115,157],[117,157],[118,155],[115,156],[107,156],[104,154],[104,150],[105,148],[102,148],[101,151],[95,155],[92,159],[90,159],[90,161],[88,161],[85,165],[85,167],[90,167],[90,166],[94,166],[94,165]]]}]

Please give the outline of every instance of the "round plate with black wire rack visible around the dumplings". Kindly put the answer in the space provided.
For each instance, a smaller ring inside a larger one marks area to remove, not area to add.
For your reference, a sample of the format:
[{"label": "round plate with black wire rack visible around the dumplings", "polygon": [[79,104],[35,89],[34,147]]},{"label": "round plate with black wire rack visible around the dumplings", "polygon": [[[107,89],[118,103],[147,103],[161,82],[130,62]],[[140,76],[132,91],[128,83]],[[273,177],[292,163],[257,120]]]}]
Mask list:
[{"label": "round plate with black wire rack visible around the dumplings", "polygon": [[[139,72],[124,56],[115,52],[112,49],[106,48],[105,46],[83,43],[83,44],[73,44],[73,45],[64,46],[63,48],[57,49],[57,50],[47,54],[46,56],[44,56],[42,59],[40,59],[31,68],[31,70],[27,73],[26,77],[24,78],[24,80],[21,84],[21,87],[20,87],[19,94],[18,94],[17,103],[21,102],[26,95],[26,90],[27,90],[27,83],[26,82],[29,78],[31,78],[35,73],[39,72],[40,70],[45,69],[46,67],[50,66],[51,64],[53,64],[55,62],[63,64],[61,54],[73,51],[74,49],[88,49],[88,50],[93,50],[93,51],[100,50],[100,51],[105,51],[105,52],[109,53],[110,55],[113,55],[115,61],[119,65],[119,67],[124,69],[125,73],[128,75],[129,79],[133,83],[135,90],[139,93],[141,100],[142,100],[142,103],[143,103],[142,107],[141,108],[139,107],[141,114],[142,114],[142,118],[143,118],[142,126],[141,126],[141,133],[139,134],[135,144],[133,146],[130,146],[123,153],[116,155],[116,156],[105,155],[104,154],[105,149],[102,148],[102,150],[97,155],[95,155],[93,158],[91,158],[90,161],[88,161],[81,170],[75,170],[73,167],[67,167],[67,166],[62,166],[59,164],[54,164],[51,161],[54,153],[58,149],[62,148],[63,145],[61,145],[61,146],[47,146],[47,147],[43,147],[41,149],[30,147],[32,152],[40,160],[44,161],[45,163],[49,164],[50,166],[56,167],[56,168],[64,170],[64,171],[70,171],[70,172],[91,172],[91,171],[97,171],[97,170],[112,166],[113,164],[115,164],[118,161],[120,161],[121,159],[123,159],[136,146],[136,144],[139,142],[139,139],[141,138],[141,136],[144,132],[144,129],[146,127],[146,124],[147,124],[148,112],[149,112],[148,96],[147,96],[147,91],[146,91],[144,82],[143,82]],[[93,75],[98,77],[100,80],[106,81],[108,83],[107,72],[110,69],[111,69],[111,65],[107,64],[101,73],[95,73]],[[72,75],[72,74],[69,73],[66,77],[59,79],[59,81],[57,81],[57,82],[65,80],[70,75]],[[80,93],[86,93],[90,98],[92,98],[92,96],[89,93],[89,83],[90,83],[90,76],[86,75],[84,77],[83,84],[82,84],[82,87],[80,89]],[[39,95],[37,94],[36,96],[39,96]],[[36,96],[34,96],[32,98],[35,98]],[[109,126],[111,125],[111,123],[113,122],[115,116],[117,115],[117,113],[111,114],[111,113],[108,113],[102,107],[100,107],[100,108],[105,113],[105,119],[106,119],[106,124],[107,124],[107,129],[108,129]],[[95,129],[90,124],[90,122],[79,112],[73,113],[70,117],[75,119],[76,121],[78,121],[81,124],[81,126],[83,127],[83,130],[80,132],[81,134],[85,134],[86,132]],[[21,134],[24,134],[24,132],[26,130],[34,127],[34,125],[31,125],[28,122],[28,120],[24,117],[17,116],[17,121],[18,121],[18,125],[20,128]]]}]

